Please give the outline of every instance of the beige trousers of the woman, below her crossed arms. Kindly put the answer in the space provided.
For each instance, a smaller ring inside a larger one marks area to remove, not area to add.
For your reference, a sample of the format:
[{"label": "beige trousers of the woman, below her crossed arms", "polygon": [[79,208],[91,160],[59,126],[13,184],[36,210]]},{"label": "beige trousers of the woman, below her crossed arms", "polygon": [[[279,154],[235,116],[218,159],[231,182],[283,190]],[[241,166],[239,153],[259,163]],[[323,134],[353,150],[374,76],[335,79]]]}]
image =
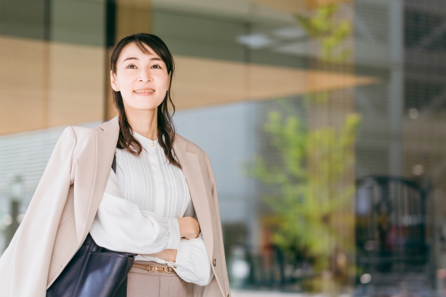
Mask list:
[{"label": "beige trousers of the woman, below her crossed arms", "polygon": [[[164,266],[155,262],[135,261],[135,264]],[[127,297],[189,297],[193,285],[182,280],[175,271],[171,273],[148,272],[134,268],[128,273]]]}]

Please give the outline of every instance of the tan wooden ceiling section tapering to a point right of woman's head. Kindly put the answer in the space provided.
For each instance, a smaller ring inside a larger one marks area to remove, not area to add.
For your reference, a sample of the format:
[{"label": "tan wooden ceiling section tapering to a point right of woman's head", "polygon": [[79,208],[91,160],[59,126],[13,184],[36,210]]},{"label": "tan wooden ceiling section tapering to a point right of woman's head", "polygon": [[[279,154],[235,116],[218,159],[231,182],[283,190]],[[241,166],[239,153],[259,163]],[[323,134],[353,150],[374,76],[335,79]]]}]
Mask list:
[{"label": "tan wooden ceiling section tapering to a point right of woman's head", "polygon": [[174,102],[187,109],[377,83],[374,77],[176,56]]}]

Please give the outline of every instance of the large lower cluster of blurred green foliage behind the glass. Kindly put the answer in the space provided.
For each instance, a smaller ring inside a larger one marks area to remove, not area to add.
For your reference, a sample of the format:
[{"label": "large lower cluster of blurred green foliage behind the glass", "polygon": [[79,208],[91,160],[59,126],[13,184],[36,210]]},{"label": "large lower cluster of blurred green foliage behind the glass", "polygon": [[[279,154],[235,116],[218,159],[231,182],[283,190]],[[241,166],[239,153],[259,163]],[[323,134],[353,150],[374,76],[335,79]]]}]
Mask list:
[{"label": "large lower cluster of blurred green foliage behind the glass", "polygon": [[328,267],[328,256],[337,248],[353,249],[332,224],[353,224],[346,207],[355,188],[344,177],[353,166],[359,122],[358,115],[350,114],[338,132],[332,127],[309,131],[297,116],[284,118],[272,111],[265,131],[279,160],[256,156],[249,167],[251,177],[277,189],[264,200],[272,211],[272,241],[286,250],[305,252],[314,259],[316,271]]}]

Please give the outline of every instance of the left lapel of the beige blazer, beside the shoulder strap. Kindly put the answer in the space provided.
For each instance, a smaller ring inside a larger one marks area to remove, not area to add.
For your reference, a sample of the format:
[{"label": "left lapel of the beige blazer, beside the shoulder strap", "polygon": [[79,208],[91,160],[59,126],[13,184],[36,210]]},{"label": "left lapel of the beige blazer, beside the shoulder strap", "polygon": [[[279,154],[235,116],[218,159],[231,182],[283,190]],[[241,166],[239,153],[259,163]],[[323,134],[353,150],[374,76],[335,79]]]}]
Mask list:
[{"label": "left lapel of the beige blazer, beside the shoulder strap", "polygon": [[[86,215],[86,226],[83,237],[89,233],[96,211],[102,195],[104,195],[105,186],[109,177],[110,168],[112,168],[113,156],[116,150],[119,136],[119,122],[116,116],[112,120],[100,125],[96,132],[96,152],[95,152],[95,175],[93,180],[93,190],[89,200],[88,212]],[[89,164],[91,166],[91,164]]]}]

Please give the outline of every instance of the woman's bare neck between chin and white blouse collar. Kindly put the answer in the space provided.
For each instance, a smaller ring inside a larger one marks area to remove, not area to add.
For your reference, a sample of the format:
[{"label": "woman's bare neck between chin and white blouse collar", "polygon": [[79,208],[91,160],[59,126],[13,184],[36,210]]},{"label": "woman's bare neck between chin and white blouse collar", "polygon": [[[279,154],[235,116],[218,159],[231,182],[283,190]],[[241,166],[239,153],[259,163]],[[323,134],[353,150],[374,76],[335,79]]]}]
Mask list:
[{"label": "woman's bare neck between chin and white blouse collar", "polygon": [[125,109],[125,115],[132,130],[137,132],[137,134],[152,141],[158,138],[157,108],[148,111]]}]

